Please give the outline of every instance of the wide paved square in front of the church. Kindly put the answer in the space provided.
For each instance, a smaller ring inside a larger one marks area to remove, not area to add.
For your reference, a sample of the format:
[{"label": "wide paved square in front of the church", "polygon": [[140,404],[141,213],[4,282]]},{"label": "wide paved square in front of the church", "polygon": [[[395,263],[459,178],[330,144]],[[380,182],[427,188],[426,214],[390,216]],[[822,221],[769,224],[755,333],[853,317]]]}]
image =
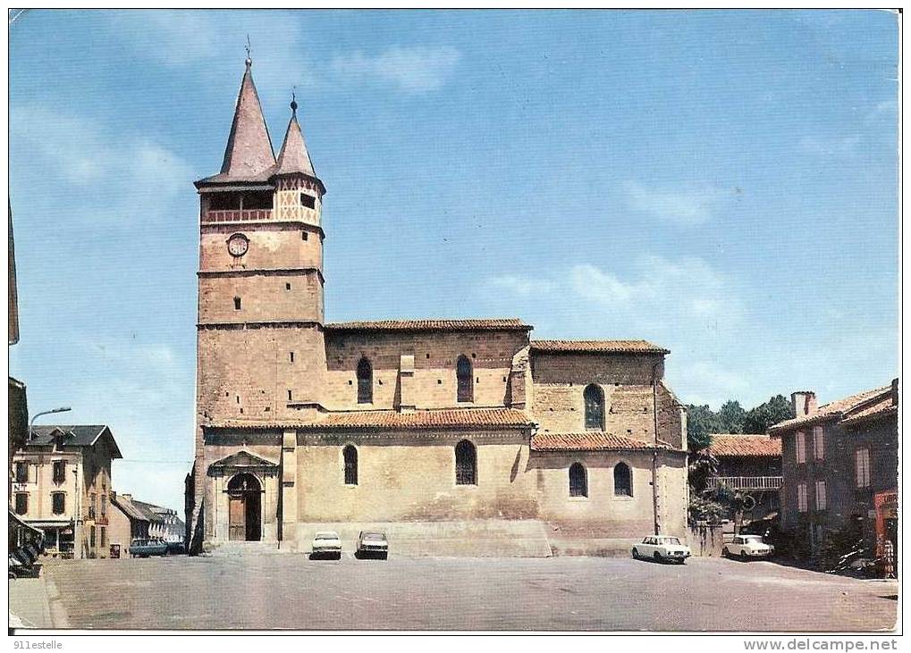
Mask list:
[{"label": "wide paved square in front of the church", "polygon": [[52,613],[77,628],[877,630],[897,604],[895,582],[718,558],[179,556],[45,571]]}]

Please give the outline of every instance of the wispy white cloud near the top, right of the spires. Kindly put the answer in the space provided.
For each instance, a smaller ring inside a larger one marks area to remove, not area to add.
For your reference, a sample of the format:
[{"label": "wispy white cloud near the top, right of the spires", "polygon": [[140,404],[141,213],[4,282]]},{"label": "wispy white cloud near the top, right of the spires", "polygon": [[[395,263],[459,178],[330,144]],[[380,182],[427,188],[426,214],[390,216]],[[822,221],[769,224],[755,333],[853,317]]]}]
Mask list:
[{"label": "wispy white cloud near the top, right of the spires", "polygon": [[392,46],[374,56],[337,55],[329,67],[347,81],[387,82],[405,93],[425,93],[442,87],[461,58],[450,46]]}]

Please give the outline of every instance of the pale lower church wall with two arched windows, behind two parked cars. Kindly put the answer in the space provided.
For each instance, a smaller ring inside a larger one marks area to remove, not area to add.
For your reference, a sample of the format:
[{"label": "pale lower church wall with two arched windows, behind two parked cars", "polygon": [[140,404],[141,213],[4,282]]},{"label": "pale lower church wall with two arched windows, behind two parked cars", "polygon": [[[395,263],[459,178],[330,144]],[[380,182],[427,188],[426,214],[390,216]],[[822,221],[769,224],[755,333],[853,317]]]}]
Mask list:
[{"label": "pale lower church wall with two arched windows, behind two parked cars", "polygon": [[[455,484],[455,444],[476,445],[477,484]],[[521,433],[299,435],[298,520],[437,521],[537,515]],[[343,447],[357,450],[357,485],[345,485]]]}]

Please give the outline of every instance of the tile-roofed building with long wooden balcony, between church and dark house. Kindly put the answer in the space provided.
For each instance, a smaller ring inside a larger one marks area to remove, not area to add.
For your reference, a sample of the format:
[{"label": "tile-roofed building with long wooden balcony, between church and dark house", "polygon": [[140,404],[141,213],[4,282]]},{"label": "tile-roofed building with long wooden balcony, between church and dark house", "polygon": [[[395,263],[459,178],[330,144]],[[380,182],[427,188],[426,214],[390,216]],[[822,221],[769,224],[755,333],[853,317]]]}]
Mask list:
[{"label": "tile-roofed building with long wooden balcony, between church and dark house", "polygon": [[710,487],[749,496],[747,512],[752,519],[778,512],[783,484],[781,441],[770,435],[713,434],[706,453],[718,461]]}]

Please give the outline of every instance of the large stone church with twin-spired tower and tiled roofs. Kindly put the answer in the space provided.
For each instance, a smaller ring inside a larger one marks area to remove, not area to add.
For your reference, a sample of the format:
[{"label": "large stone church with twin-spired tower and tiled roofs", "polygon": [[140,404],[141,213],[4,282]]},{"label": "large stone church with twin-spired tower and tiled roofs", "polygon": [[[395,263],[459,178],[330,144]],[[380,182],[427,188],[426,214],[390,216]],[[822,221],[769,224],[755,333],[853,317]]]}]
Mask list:
[{"label": "large stone church with twin-spired tower and tiled roofs", "polygon": [[683,536],[686,413],[666,349],[535,340],[514,318],[325,320],[326,187],[293,100],[275,157],[251,66],[220,172],[195,183],[190,552],[308,552],[317,530],[350,551],[368,528],[425,555]]}]

